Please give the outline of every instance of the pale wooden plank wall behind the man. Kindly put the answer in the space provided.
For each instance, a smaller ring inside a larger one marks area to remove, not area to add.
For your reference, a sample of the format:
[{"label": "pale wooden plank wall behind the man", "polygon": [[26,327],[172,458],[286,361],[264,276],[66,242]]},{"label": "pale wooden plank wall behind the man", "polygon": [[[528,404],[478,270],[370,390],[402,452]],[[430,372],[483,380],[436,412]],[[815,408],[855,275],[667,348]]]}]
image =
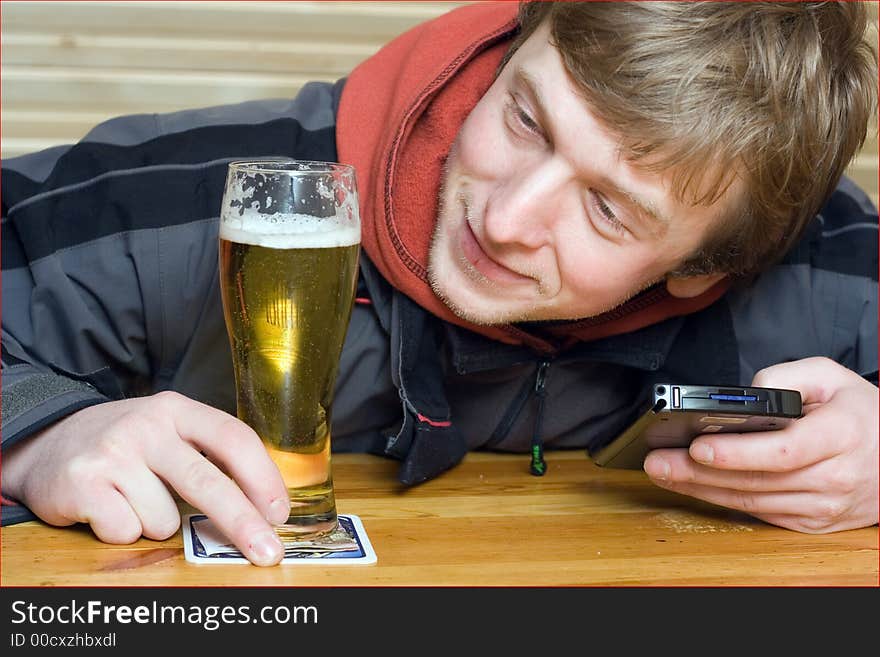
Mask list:
[{"label": "pale wooden plank wall behind the man", "polygon": [[[461,4],[4,0],[0,151],[75,141],[120,114],[291,97]],[[873,130],[849,173],[875,203],[877,163]]]}]

